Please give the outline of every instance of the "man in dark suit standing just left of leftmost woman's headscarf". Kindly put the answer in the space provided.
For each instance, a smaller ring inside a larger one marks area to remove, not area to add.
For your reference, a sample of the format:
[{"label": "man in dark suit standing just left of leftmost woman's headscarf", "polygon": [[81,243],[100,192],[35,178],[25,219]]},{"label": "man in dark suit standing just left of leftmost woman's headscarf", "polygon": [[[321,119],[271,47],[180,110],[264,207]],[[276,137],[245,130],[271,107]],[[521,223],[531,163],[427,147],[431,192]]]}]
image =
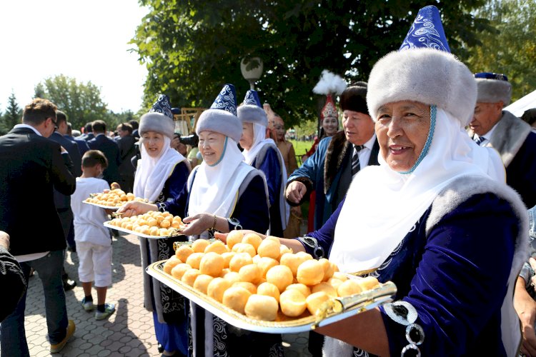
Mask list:
[{"label": "man in dark suit standing just left of leftmost woman's headscarf", "polygon": [[119,176],[121,176],[121,189],[125,192],[132,192],[134,187],[134,165],[131,163],[132,157],[136,156],[136,139],[132,135],[132,126],[129,123],[119,124],[117,126],[119,139],[119,156],[121,164],[119,165]]}]

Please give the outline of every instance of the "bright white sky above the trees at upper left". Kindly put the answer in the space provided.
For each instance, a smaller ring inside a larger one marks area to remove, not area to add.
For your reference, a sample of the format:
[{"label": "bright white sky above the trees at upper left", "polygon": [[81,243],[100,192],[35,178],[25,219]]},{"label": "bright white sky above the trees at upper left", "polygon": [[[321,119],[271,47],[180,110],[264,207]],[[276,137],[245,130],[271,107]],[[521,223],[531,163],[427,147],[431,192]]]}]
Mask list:
[{"label": "bright white sky above the trees at upper left", "polygon": [[91,81],[115,113],[137,112],[147,69],[128,42],[147,12],[137,0],[0,0],[0,112],[11,91],[23,108],[59,74]]}]

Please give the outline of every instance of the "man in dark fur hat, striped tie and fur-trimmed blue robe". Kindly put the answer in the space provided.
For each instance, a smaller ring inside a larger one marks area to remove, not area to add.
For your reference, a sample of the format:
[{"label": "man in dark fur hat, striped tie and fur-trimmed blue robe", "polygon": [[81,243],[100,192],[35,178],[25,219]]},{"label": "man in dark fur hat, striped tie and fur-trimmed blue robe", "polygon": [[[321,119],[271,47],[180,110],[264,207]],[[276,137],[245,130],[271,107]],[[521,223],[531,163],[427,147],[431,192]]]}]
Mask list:
[{"label": "man in dark fur hat, striped tie and fur-trimmed blue robe", "polygon": [[365,82],[344,89],[340,96],[344,131],[322,139],[317,151],[287,181],[285,197],[291,205],[301,204],[312,190],[316,191],[315,230],[339,206],[357,171],[378,164],[379,146],[366,97]]}]

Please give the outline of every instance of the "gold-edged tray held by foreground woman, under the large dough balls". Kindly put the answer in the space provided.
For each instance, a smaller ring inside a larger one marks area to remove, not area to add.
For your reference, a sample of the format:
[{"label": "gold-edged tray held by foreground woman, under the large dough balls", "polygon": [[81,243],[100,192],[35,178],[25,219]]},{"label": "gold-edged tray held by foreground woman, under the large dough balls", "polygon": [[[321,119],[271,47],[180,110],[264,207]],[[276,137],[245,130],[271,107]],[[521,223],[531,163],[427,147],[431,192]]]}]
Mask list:
[{"label": "gold-edged tray held by foreground woman, under the large dough balls", "polygon": [[[296,333],[309,331],[315,327],[329,325],[336,321],[343,320],[349,316],[354,316],[362,311],[367,311],[384,303],[392,301],[392,297],[397,293],[397,287],[394,283],[388,281],[363,293],[359,293],[344,298],[334,298],[330,301],[329,309],[324,311],[324,316],[317,318],[307,316],[304,318],[289,319],[287,321],[260,321],[249,318],[242,313],[232,310],[223,303],[210,298],[201,291],[192,288],[192,286],[179,281],[164,272],[163,266],[166,261],[157,261],[146,268],[147,273],[156,278],[158,281],[166,284],[169,288],[189,298],[197,305],[206,309],[210,313],[222,318],[227,323],[244,328],[249,331],[264,333]],[[349,276],[349,278],[356,278]]]}]

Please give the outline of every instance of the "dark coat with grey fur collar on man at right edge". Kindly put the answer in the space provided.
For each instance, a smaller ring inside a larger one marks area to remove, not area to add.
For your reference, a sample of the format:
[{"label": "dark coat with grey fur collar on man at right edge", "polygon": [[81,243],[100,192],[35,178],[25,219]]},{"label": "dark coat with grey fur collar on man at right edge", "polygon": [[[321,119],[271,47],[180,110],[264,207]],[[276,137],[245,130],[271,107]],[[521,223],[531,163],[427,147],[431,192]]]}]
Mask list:
[{"label": "dark coat with grey fur collar on man at right edge", "polygon": [[506,183],[532,208],[536,205],[536,133],[510,111],[502,111],[489,140],[486,146],[497,150],[505,164]]}]

